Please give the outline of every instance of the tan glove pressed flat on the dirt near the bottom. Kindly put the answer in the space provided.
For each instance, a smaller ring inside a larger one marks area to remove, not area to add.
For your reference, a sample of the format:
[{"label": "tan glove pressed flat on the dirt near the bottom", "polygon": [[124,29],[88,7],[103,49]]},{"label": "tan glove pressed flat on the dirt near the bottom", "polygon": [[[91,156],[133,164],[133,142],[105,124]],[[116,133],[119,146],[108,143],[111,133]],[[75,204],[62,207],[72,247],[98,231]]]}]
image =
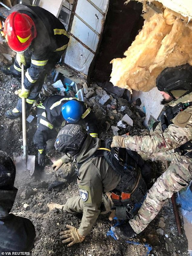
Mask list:
[{"label": "tan glove pressed flat on the dirt near the bottom", "polygon": [[71,242],[67,245],[67,247],[70,247],[77,243],[81,243],[85,239],[84,236],[81,236],[79,234],[77,228],[74,228],[73,226],[70,225],[66,225],[66,228],[69,228],[69,230],[62,231],[59,234],[63,244]]}]

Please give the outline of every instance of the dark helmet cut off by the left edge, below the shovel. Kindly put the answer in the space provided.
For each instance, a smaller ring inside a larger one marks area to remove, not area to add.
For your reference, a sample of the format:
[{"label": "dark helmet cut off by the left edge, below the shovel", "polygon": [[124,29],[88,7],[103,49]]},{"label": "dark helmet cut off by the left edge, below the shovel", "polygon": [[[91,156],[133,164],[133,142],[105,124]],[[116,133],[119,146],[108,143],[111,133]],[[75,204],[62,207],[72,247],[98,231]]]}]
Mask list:
[{"label": "dark helmet cut off by the left edge, below the shovel", "polygon": [[11,190],[15,181],[15,165],[12,159],[0,151],[0,189]]}]

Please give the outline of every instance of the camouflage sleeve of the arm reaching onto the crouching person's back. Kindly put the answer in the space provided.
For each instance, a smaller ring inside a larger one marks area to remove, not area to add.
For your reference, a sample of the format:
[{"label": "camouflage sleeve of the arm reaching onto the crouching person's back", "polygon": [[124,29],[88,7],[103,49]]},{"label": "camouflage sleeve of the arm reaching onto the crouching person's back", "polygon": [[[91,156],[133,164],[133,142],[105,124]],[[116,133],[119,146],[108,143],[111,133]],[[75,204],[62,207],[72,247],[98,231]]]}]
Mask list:
[{"label": "camouflage sleeve of the arm reaching onto the crouching person's back", "polygon": [[146,136],[128,136],[125,147],[144,153],[165,152],[178,148],[192,139],[192,128],[169,125],[164,132],[154,132]]}]

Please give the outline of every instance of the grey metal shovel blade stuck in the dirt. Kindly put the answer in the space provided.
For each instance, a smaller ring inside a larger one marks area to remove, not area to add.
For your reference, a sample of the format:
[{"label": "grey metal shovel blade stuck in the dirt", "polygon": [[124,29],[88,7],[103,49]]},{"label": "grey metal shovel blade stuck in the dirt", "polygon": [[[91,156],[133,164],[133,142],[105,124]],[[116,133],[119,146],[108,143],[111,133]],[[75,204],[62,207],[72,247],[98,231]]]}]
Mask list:
[{"label": "grey metal shovel blade stuck in the dirt", "polygon": [[18,156],[15,158],[15,167],[18,173],[28,171],[30,175],[33,175],[35,170],[35,155],[27,155],[27,166],[25,167],[24,156]]}]

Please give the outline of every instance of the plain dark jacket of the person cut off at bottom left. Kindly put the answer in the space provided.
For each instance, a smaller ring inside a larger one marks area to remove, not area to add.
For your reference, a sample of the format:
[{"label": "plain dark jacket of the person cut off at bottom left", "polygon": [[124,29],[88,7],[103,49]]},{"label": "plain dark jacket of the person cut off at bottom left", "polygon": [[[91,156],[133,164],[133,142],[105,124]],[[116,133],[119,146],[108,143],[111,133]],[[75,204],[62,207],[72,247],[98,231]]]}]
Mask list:
[{"label": "plain dark jacket of the person cut off at bottom left", "polygon": [[16,188],[0,190],[0,255],[2,252],[28,252],[34,244],[35,227],[32,222],[9,213],[16,194]]}]

